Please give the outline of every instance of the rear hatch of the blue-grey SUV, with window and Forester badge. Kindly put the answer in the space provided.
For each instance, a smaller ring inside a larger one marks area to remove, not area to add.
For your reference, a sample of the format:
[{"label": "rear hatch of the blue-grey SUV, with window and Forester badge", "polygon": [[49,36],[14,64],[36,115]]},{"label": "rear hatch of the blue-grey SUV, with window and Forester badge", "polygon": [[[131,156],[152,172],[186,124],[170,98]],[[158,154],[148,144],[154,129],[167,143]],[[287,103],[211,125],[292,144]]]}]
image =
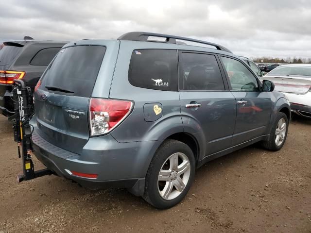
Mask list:
[{"label": "rear hatch of the blue-grey SUV, with window and Forester badge", "polygon": [[88,102],[106,47],[79,45],[59,51],[39,80],[35,97],[38,133],[80,154],[89,138]]}]

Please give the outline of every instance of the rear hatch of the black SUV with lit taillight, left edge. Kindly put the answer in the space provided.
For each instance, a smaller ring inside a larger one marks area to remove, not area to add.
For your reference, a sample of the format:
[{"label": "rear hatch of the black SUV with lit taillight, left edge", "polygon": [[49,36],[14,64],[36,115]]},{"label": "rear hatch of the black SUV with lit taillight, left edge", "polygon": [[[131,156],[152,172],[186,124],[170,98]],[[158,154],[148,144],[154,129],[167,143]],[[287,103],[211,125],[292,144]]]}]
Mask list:
[{"label": "rear hatch of the black SUV with lit taillight, left edge", "polygon": [[12,84],[7,84],[3,71],[10,70],[25,44],[25,41],[4,42],[0,50],[0,106],[2,107],[6,107],[4,106],[5,92],[12,89]]}]

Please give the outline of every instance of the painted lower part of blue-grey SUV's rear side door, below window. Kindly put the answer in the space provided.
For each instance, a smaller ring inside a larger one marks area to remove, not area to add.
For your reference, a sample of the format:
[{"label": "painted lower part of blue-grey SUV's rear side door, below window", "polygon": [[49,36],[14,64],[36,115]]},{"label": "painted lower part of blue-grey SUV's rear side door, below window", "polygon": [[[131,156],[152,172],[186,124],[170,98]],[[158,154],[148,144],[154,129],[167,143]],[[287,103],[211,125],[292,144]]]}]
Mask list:
[{"label": "painted lower part of blue-grey SUV's rear side door, below window", "polygon": [[[186,108],[186,104],[195,102],[201,106]],[[236,104],[229,91],[180,91],[180,105],[184,126],[194,126],[204,132],[206,155],[230,147]]]}]

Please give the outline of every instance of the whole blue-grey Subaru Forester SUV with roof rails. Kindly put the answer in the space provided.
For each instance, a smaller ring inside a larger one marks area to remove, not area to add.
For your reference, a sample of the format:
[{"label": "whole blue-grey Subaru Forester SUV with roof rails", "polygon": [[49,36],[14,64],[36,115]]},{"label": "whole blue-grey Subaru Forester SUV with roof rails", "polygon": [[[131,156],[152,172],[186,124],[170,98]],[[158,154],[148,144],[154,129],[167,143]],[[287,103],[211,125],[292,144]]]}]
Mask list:
[{"label": "whole blue-grey Subaru Forester SUV with roof rails", "polygon": [[92,189],[128,188],[157,208],[182,200],[207,161],[259,141],[281,149],[290,119],[286,97],[230,50],[141,32],[67,44],[34,101],[34,152],[45,166]]}]

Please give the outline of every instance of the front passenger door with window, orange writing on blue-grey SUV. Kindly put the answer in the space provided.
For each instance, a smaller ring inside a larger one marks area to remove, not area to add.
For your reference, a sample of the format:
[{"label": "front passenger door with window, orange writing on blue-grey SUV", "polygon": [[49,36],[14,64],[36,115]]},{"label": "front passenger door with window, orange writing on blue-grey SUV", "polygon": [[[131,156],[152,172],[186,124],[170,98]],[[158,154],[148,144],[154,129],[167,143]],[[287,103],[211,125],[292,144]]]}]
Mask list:
[{"label": "front passenger door with window, orange writing on blue-grey SUV", "polygon": [[232,146],[235,146],[267,132],[272,103],[248,66],[231,57],[221,56],[221,61],[237,105],[232,138]]}]

